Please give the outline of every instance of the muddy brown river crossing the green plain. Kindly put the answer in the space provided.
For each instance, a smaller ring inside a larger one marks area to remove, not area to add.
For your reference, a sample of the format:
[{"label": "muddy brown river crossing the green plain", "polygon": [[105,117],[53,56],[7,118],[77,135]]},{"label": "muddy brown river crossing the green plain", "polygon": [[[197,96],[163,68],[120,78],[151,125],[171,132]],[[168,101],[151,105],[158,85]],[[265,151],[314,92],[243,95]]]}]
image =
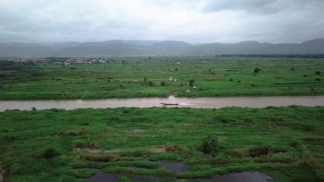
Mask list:
[{"label": "muddy brown river crossing the green plain", "polygon": [[[161,105],[173,103],[179,105]],[[4,110],[37,110],[59,108],[73,110],[77,108],[119,108],[119,107],[190,107],[190,108],[222,108],[249,107],[264,108],[267,106],[324,105],[324,96],[297,97],[167,97],[167,98],[135,98],[135,99],[96,99],[96,100],[28,100],[28,101],[0,101],[0,111]]]}]

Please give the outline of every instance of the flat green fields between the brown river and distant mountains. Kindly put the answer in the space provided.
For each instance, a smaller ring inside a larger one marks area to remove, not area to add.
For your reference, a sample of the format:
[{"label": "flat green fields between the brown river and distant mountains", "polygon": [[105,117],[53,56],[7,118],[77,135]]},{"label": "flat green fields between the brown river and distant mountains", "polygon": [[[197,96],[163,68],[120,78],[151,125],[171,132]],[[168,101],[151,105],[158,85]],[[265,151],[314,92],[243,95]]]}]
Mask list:
[{"label": "flat green fields between the brown river and distant mountains", "polygon": [[[103,59],[107,63],[54,65],[0,61],[0,99],[167,97],[174,93],[178,97],[324,94],[323,58],[84,59]],[[193,82],[188,84],[189,80]]]}]

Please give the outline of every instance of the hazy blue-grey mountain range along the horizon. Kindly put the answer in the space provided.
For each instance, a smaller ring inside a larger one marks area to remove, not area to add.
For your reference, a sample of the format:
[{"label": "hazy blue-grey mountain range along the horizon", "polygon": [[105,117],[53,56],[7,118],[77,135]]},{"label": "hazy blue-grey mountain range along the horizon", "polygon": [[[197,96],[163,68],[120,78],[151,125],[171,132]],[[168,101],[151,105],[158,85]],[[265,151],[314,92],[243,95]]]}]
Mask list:
[{"label": "hazy blue-grey mountain range along the horizon", "polygon": [[19,56],[128,56],[128,55],[216,55],[216,54],[324,54],[324,38],[303,43],[191,44],[185,41],[0,43],[1,57]]}]

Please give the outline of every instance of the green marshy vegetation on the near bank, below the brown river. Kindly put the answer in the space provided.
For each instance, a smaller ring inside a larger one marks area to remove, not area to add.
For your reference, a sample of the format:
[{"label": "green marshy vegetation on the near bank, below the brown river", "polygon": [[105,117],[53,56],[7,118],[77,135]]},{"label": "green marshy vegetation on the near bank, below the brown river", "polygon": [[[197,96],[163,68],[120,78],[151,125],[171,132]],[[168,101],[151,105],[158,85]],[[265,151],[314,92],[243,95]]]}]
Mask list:
[{"label": "green marshy vegetation on the near bank, below the brown river", "polygon": [[[5,181],[82,181],[96,173],[87,168],[163,181],[255,170],[282,182],[323,181],[323,118],[324,107],[296,105],[6,110],[0,170]],[[197,166],[172,174],[159,160]]]}]

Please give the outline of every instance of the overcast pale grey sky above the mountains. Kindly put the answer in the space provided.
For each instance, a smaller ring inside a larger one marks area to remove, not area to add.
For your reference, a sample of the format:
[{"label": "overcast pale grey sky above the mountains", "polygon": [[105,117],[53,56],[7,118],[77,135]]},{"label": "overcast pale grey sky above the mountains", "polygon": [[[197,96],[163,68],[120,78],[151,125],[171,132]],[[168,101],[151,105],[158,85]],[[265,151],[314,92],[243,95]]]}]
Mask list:
[{"label": "overcast pale grey sky above the mountains", "polygon": [[324,0],[1,0],[1,42],[324,38]]}]

